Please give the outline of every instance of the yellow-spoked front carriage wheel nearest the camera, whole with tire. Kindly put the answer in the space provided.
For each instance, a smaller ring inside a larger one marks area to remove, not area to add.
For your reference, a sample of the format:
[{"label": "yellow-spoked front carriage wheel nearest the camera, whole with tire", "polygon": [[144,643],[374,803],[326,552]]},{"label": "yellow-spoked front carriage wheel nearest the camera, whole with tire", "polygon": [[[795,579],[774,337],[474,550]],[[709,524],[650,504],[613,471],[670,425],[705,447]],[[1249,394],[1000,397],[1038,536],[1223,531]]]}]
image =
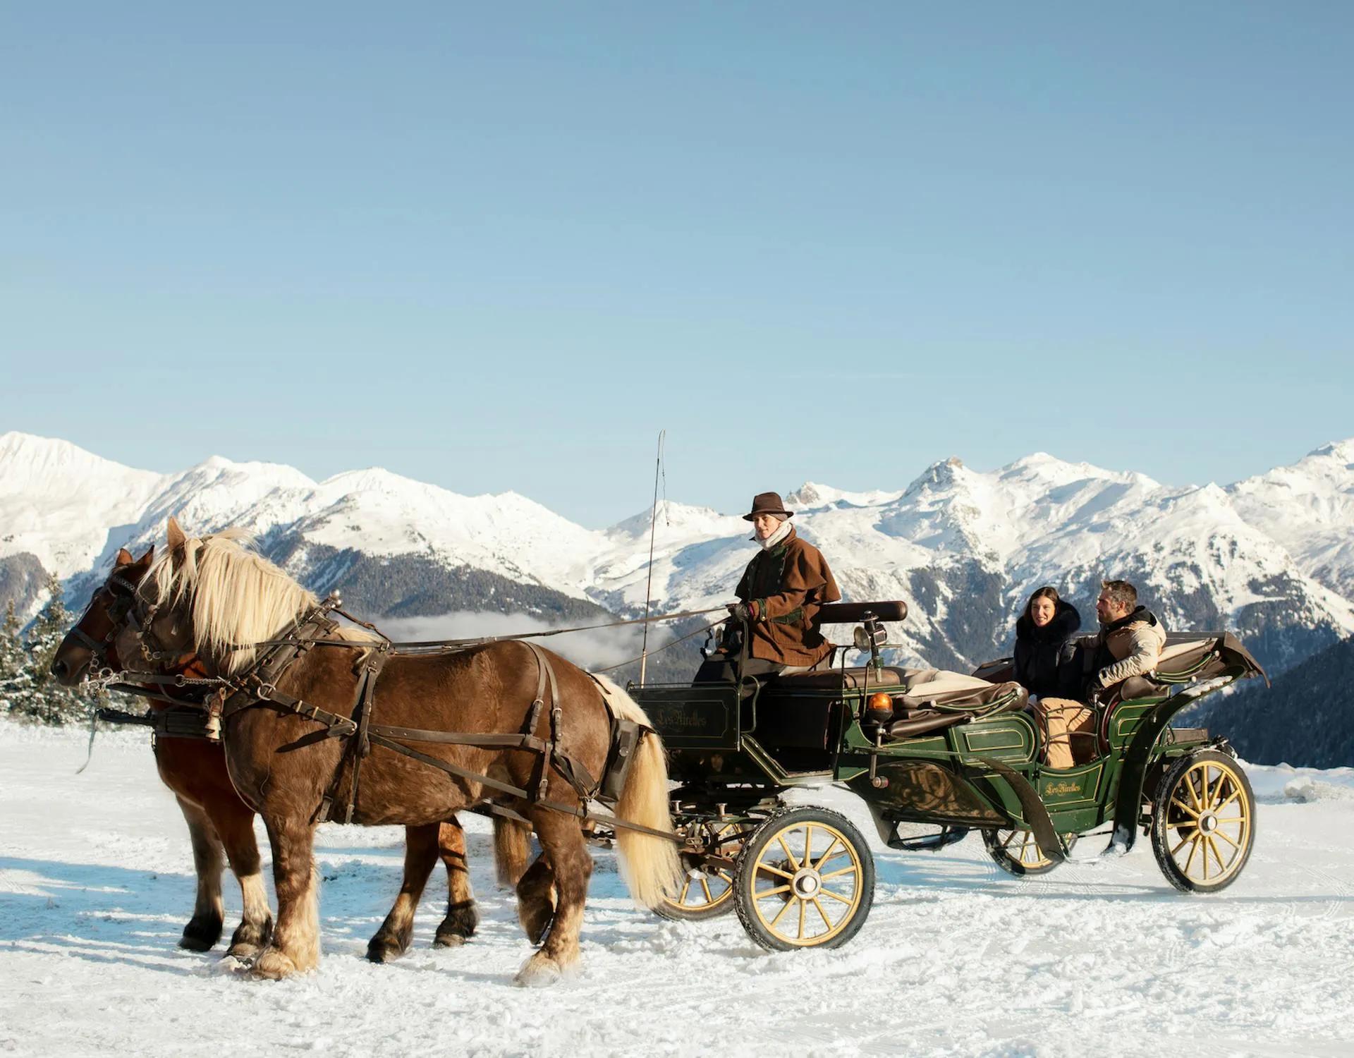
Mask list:
[{"label": "yellow-spoked front carriage wheel nearest the camera, whole with tire", "polygon": [[826,809],[789,809],[747,839],[734,872],[734,908],[764,948],[835,948],[865,924],[875,860],[860,830]]}]

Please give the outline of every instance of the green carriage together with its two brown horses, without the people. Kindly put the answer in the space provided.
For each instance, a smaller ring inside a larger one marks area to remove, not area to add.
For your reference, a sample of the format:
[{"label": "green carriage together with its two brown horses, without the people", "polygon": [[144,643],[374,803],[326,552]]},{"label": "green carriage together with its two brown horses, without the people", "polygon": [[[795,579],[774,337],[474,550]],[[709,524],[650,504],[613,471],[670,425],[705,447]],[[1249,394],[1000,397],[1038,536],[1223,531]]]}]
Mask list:
[{"label": "green carriage together with its two brown horses, without the people", "polygon": [[[500,878],[516,885],[527,935],[543,943],[520,974],[531,982],[578,958],[590,874],[582,820],[612,828],[638,901],[677,918],[737,909],[768,948],[845,943],[873,898],[860,832],[829,809],[789,806],[795,787],[857,792],[895,848],[979,829],[1013,874],[1051,870],[1106,822],[1120,851],[1144,826],[1183,890],[1229,885],[1250,853],[1254,799],[1229,746],[1170,723],[1202,695],[1263,675],[1227,634],[1174,637],[1152,681],[1101,707],[1093,755],[1056,771],[1040,763],[1025,690],[999,664],[974,675],[883,664],[881,622],[902,620],[902,603],[823,608],[825,622],[858,625],[861,666],[650,684],[631,688],[634,700],[529,643],[397,645],[371,626],[341,629],[334,612],[334,597],[317,600],[232,534],[187,538],[171,520],[158,559],[119,555],[56,662],[66,680],[93,669],[152,699],[133,719],[164,740],[161,775],[190,828],[202,816],[195,847],[199,830],[218,845],[215,883],[198,864],[187,946],[211,947],[221,931],[219,843],[230,851],[232,829],[249,839],[230,852],[245,894],[232,954],[256,975],[318,959],[311,843],[324,820],[406,826],[405,886],[368,947],[385,960],[408,948],[439,855],[450,871],[459,864],[439,943],[474,931],[455,813],[492,814]],[[646,723],[659,738],[642,737]],[[180,744],[204,749],[171,753]],[[171,756],[214,788],[176,784]],[[275,927],[252,847],[256,811],[274,851]],[[914,822],[938,832],[898,833]],[[529,830],[542,847],[531,866]]]}]

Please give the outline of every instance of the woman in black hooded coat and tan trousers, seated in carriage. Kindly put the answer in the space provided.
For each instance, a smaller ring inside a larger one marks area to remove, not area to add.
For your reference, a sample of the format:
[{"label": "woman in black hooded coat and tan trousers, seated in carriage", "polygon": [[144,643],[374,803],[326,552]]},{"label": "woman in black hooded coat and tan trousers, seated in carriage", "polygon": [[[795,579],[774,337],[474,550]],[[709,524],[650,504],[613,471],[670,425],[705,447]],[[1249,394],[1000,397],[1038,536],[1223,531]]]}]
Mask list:
[{"label": "woman in black hooded coat and tan trousers, seated in carriage", "polygon": [[1056,588],[1034,592],[1016,622],[1016,681],[1030,694],[1052,768],[1072,767],[1068,730],[1080,730],[1086,719],[1082,714],[1089,715],[1075,700],[1080,692],[1080,664],[1072,637],[1080,627],[1082,615],[1057,597]]}]

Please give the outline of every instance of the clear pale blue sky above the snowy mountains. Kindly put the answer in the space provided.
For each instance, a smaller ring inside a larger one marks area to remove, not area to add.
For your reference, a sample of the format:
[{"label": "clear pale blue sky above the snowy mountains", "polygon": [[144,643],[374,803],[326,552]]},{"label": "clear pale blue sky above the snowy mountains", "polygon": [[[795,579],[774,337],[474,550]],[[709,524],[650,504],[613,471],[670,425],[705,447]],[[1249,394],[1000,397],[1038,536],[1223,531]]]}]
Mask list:
[{"label": "clear pale blue sky above the snowy mountains", "polygon": [[0,431],[585,524],[1354,435],[1354,5],[7,4]]}]

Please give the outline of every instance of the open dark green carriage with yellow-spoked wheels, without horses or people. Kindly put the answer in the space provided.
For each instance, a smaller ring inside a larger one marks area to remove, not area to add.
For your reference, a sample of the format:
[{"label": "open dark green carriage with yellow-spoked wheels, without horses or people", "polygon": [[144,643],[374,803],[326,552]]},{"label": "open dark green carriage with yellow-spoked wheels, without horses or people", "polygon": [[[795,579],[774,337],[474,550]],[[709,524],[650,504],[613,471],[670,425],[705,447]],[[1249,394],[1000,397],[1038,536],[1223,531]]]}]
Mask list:
[{"label": "open dark green carriage with yellow-spoked wheels, without horses or people", "polygon": [[[1224,633],[1173,635],[1152,680],[1127,681],[1098,707],[1082,763],[1041,763],[1044,736],[1009,661],[974,675],[881,664],[881,622],[904,603],[823,607],[853,623],[860,666],[734,684],[630,688],[669,750],[682,889],[658,912],[737,910],[773,950],[834,947],[869,914],[869,847],[837,811],[785,794],[825,783],[861,797],[892,848],[940,848],[982,832],[1003,870],[1040,874],[1079,834],[1112,824],[1110,848],[1151,836],[1167,881],[1215,891],[1236,879],[1254,839],[1254,797],[1224,738],[1173,727],[1181,710],[1259,664]],[[934,833],[904,837],[899,826]]]}]

